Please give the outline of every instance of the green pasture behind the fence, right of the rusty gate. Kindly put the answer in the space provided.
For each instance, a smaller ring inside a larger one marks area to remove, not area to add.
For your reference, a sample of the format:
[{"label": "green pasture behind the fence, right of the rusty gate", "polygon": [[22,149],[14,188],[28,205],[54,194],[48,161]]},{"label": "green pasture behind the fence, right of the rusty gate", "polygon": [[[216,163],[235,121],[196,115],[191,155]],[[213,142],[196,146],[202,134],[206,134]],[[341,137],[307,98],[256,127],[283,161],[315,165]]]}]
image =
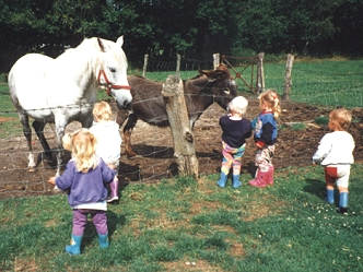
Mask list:
[{"label": "green pasture behind the fence, right of the rusty gate", "polygon": [[[362,107],[362,60],[296,60],[290,99],[326,107]],[[282,94],[285,63],[266,63],[264,69],[266,87]]]}]

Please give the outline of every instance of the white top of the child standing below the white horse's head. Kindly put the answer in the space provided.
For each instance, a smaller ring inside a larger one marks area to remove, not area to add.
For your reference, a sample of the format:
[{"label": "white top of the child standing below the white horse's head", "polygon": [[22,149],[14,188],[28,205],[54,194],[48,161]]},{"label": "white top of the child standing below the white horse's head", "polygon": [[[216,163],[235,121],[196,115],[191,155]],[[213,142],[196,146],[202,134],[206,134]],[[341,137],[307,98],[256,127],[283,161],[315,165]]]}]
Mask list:
[{"label": "white top of the child standing below the white horse's head", "polygon": [[97,139],[96,155],[98,157],[102,157],[106,164],[113,163],[120,158],[122,140],[117,122],[93,122],[90,130]]}]

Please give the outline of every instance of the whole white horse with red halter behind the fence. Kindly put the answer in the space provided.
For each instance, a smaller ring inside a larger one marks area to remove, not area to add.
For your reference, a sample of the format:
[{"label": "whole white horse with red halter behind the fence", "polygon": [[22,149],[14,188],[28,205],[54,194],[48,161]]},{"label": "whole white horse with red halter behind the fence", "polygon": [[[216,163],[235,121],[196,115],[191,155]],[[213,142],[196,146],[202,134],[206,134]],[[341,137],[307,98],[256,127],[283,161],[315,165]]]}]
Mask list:
[{"label": "whole white horse with red halter behind the fence", "polygon": [[80,121],[83,128],[91,127],[98,86],[106,88],[119,108],[127,108],[131,104],[122,44],[122,36],[116,43],[93,37],[84,39],[77,48],[67,50],[56,59],[28,54],[12,67],[9,73],[10,95],[27,141],[30,172],[36,170],[36,164],[28,117],[34,119],[33,128],[49,163],[52,161],[51,150],[43,132],[46,123],[55,123],[58,176],[62,163],[61,140],[65,128],[73,120]]}]

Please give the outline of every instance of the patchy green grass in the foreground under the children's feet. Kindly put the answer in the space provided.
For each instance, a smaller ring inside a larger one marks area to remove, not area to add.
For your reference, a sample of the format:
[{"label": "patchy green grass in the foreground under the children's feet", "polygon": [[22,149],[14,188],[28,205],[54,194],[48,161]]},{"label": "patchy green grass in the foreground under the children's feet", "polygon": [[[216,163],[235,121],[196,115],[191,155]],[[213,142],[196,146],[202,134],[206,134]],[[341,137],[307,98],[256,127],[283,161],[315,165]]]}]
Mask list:
[{"label": "patchy green grass in the foreground under the children's feet", "polygon": [[236,190],[218,176],[130,185],[108,205],[110,247],[90,223],[78,257],[67,196],[1,200],[0,271],[362,271],[362,175],[353,165],[349,215],[324,200],[321,167],[278,170],[265,189],[247,174]]}]

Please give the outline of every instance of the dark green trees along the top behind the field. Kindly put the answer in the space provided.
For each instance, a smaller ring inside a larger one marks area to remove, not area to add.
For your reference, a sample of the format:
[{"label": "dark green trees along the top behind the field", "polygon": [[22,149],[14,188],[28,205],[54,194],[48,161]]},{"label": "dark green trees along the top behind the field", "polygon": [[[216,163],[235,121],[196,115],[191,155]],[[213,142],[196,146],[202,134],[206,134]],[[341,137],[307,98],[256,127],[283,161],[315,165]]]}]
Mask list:
[{"label": "dark green trees along the top behind the field", "polygon": [[55,57],[92,36],[125,35],[130,57],[363,52],[361,0],[2,0],[0,25],[1,72],[25,52]]}]

